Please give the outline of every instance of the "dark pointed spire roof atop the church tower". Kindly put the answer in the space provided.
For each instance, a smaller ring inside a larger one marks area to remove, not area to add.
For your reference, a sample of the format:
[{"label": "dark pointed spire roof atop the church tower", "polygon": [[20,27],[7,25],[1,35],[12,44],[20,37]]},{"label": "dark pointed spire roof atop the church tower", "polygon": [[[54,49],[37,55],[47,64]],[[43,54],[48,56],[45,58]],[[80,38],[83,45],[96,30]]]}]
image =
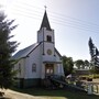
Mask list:
[{"label": "dark pointed spire roof atop the church tower", "polygon": [[50,25],[50,22],[48,22],[48,18],[47,18],[46,11],[45,11],[43,20],[42,20],[41,29],[42,28],[46,28],[46,30],[50,30],[50,31],[52,30],[51,25]]}]

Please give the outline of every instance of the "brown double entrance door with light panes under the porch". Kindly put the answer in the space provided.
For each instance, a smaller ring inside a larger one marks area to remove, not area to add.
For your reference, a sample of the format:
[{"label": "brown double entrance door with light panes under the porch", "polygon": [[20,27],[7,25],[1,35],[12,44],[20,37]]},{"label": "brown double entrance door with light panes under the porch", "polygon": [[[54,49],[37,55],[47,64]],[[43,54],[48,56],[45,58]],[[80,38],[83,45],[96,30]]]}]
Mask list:
[{"label": "brown double entrance door with light panes under the porch", "polygon": [[54,64],[45,65],[45,77],[54,74]]}]

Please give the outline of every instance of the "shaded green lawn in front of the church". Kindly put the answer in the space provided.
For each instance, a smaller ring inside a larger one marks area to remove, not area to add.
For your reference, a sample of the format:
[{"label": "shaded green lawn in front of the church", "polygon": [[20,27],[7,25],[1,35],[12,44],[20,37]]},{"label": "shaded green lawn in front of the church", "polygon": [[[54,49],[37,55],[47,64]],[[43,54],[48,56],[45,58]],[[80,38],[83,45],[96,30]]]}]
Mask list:
[{"label": "shaded green lawn in front of the church", "polygon": [[91,95],[88,96],[85,92],[79,92],[75,90],[47,90],[42,88],[31,88],[31,89],[13,89],[15,91],[33,95],[36,97],[46,97],[47,99],[99,99],[99,96]]}]

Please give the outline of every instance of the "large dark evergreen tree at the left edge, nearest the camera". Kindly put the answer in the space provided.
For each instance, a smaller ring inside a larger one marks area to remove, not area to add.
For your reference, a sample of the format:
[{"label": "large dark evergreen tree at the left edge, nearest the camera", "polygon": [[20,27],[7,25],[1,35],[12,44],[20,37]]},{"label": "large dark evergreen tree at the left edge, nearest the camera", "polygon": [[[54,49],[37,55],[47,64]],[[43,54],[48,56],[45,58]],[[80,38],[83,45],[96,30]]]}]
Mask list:
[{"label": "large dark evergreen tree at the left edge, nearest the camera", "polygon": [[12,53],[15,52],[19,43],[10,41],[13,37],[11,31],[16,28],[12,26],[14,20],[7,20],[3,12],[0,12],[0,88],[9,88],[13,82],[13,63]]}]

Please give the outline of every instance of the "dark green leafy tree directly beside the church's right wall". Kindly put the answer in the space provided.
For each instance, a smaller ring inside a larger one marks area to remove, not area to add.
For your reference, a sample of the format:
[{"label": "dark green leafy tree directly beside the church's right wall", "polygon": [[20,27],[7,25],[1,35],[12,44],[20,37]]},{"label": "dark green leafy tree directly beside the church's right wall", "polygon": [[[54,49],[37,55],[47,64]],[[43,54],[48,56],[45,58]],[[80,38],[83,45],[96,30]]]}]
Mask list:
[{"label": "dark green leafy tree directly beside the church's right wall", "polygon": [[73,58],[63,56],[63,66],[64,66],[65,76],[72,74],[74,69]]}]

